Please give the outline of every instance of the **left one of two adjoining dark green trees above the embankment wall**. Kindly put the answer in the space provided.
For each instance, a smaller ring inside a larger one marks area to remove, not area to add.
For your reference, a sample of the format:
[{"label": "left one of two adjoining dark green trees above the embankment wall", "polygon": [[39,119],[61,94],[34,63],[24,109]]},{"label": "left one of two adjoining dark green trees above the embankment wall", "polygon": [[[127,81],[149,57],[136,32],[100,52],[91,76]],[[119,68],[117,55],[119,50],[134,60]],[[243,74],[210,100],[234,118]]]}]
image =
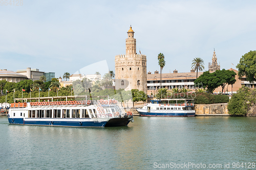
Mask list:
[{"label": "left one of two adjoining dark green trees above the embankment wall", "polygon": [[209,71],[205,71],[201,76],[199,76],[194,84],[196,86],[203,86],[203,88],[207,88],[207,91],[212,93],[217,87],[220,86],[220,79],[216,77],[216,72],[210,73]]}]

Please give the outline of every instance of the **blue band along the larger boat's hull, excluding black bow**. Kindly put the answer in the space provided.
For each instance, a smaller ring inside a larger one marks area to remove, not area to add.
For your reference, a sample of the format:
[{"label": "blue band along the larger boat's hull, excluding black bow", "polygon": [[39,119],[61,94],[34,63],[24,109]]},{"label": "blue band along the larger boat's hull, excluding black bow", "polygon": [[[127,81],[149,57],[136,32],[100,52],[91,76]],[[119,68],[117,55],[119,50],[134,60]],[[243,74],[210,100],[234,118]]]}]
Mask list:
[{"label": "blue band along the larger boat's hull, excluding black bow", "polygon": [[[13,121],[12,121],[13,120]],[[23,118],[8,118],[10,124],[41,125],[41,126],[67,126],[67,127],[104,127],[105,122],[67,122],[67,121],[24,121]],[[53,123],[53,124],[52,124]]]}]

